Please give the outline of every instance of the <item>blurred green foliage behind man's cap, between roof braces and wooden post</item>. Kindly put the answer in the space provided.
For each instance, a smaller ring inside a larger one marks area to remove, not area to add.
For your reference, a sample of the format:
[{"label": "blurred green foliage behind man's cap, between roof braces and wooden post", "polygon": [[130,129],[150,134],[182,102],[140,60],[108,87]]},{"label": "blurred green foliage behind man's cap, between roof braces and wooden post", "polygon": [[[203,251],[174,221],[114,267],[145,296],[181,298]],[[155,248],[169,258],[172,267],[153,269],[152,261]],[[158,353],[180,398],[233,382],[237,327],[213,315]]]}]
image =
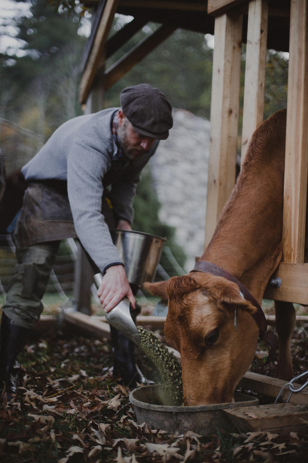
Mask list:
[{"label": "blurred green foliage behind man's cap, between roof braces and wooden post", "polygon": [[[120,20],[114,27],[119,26]],[[154,23],[146,25],[111,56],[106,67],[115,63],[157,27],[159,25]],[[172,106],[209,118],[211,72],[212,50],[204,34],[177,29],[106,92],[106,107],[119,105],[119,94],[123,88],[145,82],[159,87]]]}]

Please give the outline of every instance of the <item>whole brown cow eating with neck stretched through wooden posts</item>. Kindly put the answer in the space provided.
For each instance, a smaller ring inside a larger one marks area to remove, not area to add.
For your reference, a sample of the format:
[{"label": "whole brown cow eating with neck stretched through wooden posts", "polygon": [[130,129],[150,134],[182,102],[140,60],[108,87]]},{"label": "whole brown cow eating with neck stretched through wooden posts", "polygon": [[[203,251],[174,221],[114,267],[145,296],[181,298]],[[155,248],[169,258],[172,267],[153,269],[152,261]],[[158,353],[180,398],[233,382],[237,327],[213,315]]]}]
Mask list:
[{"label": "whole brown cow eating with neck stretched through wooden posts", "polygon": [[[282,110],[254,132],[236,186],[201,257],[234,275],[259,304],[282,256],[285,127]],[[200,271],[146,283],[145,288],[168,301],[164,331],[168,344],[181,353],[185,405],[232,401],[258,342],[255,307],[241,297],[235,282]],[[289,380],[295,311],[286,302],[275,302],[275,310],[277,376]]]}]

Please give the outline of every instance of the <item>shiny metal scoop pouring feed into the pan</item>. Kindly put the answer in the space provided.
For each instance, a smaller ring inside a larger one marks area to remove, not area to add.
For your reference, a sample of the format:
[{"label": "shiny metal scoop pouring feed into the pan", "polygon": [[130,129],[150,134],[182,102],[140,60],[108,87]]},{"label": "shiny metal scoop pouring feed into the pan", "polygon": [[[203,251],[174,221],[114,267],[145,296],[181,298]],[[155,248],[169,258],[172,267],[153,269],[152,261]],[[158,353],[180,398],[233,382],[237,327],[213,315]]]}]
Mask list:
[{"label": "shiny metal scoop pouring feed into the pan", "polygon": [[[94,281],[97,285],[97,288],[100,286],[102,279],[103,275],[101,273],[94,275]],[[121,333],[125,334],[125,336],[133,341],[133,343],[139,345],[141,339],[136,325],[134,324],[131,317],[129,307],[130,302],[127,297],[124,297],[122,300],[120,300],[118,305],[110,310],[110,312],[106,313],[106,321]]]}]

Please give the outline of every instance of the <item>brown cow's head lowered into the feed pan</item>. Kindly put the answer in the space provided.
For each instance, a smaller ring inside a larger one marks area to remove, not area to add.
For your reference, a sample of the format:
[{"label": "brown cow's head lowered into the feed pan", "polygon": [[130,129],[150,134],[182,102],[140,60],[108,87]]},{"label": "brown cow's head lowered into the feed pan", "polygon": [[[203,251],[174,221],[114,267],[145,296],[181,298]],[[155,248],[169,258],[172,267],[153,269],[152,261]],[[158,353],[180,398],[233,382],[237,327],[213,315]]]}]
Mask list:
[{"label": "brown cow's head lowered into the feed pan", "polygon": [[257,346],[255,307],[236,283],[200,272],[144,286],[168,302],[164,332],[181,353],[185,405],[231,402]]}]

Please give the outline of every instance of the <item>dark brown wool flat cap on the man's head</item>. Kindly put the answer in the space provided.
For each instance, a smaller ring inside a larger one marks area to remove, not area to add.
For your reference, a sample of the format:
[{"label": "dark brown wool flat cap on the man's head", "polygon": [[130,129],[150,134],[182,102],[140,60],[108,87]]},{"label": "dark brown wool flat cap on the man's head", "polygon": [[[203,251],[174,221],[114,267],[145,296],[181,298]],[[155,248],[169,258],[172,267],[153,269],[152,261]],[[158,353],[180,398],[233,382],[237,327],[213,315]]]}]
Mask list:
[{"label": "dark brown wool flat cap on the man's head", "polygon": [[145,137],[165,140],[173,125],[172,106],[163,92],[149,84],[124,88],[121,108],[133,128]]}]

